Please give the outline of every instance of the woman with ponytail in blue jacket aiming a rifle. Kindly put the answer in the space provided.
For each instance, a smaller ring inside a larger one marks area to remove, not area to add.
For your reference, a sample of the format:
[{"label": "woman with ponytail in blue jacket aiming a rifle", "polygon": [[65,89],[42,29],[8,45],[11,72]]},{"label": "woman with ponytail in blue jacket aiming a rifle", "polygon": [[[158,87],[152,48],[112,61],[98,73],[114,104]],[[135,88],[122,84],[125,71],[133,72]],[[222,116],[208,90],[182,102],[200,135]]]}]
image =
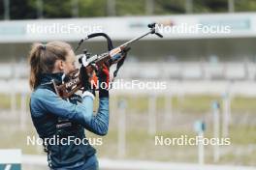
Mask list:
[{"label": "woman with ponytail in blue jacket aiming a rifle", "polygon": [[[61,83],[65,74],[75,71],[75,57],[66,42],[35,43],[29,55],[31,118],[44,140],[50,169],[98,169],[96,151],[86,140],[84,128],[98,135],[106,135],[109,128],[109,92],[100,89],[98,112],[93,115],[94,93],[84,70],[81,97],[65,100],[56,95],[52,80]],[[109,81],[106,67],[99,81]]]}]

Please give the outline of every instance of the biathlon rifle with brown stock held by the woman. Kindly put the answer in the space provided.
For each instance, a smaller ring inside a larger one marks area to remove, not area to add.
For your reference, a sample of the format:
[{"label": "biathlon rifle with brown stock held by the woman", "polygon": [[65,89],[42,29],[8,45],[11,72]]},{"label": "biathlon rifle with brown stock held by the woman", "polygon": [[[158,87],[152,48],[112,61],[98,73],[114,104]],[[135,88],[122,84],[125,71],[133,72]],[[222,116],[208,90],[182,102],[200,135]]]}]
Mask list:
[{"label": "biathlon rifle with brown stock held by the woman", "polygon": [[[108,52],[105,52],[100,55],[93,55],[89,54],[87,50],[84,50],[82,54],[78,55],[80,64],[85,67],[86,72],[92,72],[92,71],[98,71],[101,70],[103,65],[107,63],[107,65],[112,66],[113,64],[117,64],[116,70],[113,72],[113,78],[117,75],[118,70],[122,66],[126,55],[123,55],[130,49],[130,44],[133,42],[137,42],[141,39],[143,39],[145,36],[150,34],[155,34],[159,38],[163,38],[161,34],[156,32],[155,29],[156,23],[148,24],[149,31],[146,32],[144,35],[139,36],[137,38],[134,38],[128,42],[125,42],[123,44],[120,44],[119,46],[113,48],[112,46],[112,40],[111,38],[105,34],[105,33],[93,33],[85,37],[84,39],[81,39],[79,42],[78,47],[76,48],[76,51],[80,47],[80,44],[88,39],[95,38],[102,36],[106,38],[108,42]],[[82,67],[81,66],[81,67]],[[66,82],[57,85],[54,81],[53,86],[55,88],[55,91],[59,97],[62,99],[67,99],[71,97],[73,94],[75,94],[77,91],[82,90],[82,84],[80,81],[80,69],[77,69],[76,71],[71,72],[69,75],[67,75],[68,79]]]}]

